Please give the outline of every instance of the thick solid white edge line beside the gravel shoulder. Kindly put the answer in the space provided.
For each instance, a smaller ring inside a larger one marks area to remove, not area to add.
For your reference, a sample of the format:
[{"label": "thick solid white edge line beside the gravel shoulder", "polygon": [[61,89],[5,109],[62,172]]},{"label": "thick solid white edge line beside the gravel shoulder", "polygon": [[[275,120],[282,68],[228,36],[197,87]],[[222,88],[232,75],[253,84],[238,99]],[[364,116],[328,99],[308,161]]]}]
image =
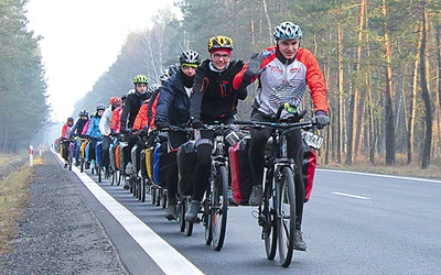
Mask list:
[{"label": "thick solid white edge line beside the gravel shoulder", "polygon": [[[56,155],[61,158],[60,154]],[[64,161],[62,162],[64,163]],[[87,174],[80,173],[75,166],[72,166],[72,172],[78,176],[98,201],[117,219],[165,274],[204,274],[138,217],[115,200]]]}]

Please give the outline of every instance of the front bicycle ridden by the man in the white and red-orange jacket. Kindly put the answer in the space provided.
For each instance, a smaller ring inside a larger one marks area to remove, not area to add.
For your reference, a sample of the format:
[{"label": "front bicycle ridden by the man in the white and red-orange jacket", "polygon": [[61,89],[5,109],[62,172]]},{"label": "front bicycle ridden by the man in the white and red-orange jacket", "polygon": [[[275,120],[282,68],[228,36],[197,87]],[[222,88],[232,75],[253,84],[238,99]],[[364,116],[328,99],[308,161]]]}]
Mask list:
[{"label": "front bicycle ridden by the man in the white and red-orange jacket", "polygon": [[[294,129],[315,129],[312,122],[288,122],[280,121],[281,106],[277,112],[277,122],[265,121],[235,121],[235,124],[249,125],[254,129],[272,129],[272,142],[269,145],[270,154],[266,154],[263,172],[263,196],[262,205],[258,208],[258,223],[262,227],[261,239],[268,260],[276,256],[279,248],[279,260],[282,266],[291,264],[293,254],[293,241],[295,232],[295,188],[293,177],[294,161],[288,157],[287,135]],[[299,120],[304,116],[295,112],[293,117]]]}]

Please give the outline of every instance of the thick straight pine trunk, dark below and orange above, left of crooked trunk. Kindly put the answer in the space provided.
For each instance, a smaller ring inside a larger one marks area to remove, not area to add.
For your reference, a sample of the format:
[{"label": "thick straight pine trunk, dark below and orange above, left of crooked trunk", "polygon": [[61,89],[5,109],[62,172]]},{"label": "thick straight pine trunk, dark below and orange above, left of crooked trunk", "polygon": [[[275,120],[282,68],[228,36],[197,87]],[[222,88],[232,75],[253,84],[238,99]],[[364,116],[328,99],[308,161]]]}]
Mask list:
[{"label": "thick straight pine trunk, dark below and orange above, left of crooked trunk", "polygon": [[[386,0],[383,0],[383,15],[387,15]],[[389,40],[389,25],[385,22],[384,46],[386,58],[386,91],[385,91],[385,136],[386,136],[386,166],[395,165],[395,113],[394,113],[394,85],[391,62],[391,45]]]}]

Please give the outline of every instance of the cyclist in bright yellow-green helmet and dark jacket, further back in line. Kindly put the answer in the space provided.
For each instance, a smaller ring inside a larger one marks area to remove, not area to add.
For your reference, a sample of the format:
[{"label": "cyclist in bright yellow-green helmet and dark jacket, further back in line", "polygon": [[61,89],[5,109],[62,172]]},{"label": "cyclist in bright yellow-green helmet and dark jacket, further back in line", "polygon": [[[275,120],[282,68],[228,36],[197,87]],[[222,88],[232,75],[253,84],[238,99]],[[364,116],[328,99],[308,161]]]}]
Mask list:
[{"label": "cyclist in bright yellow-green helmet and dark jacket, further back in line", "polygon": [[[125,134],[123,140],[128,143],[128,146],[123,152],[125,160],[127,160],[125,164],[126,168],[131,167],[130,152],[133,145],[137,143],[137,133],[133,133],[129,130],[133,128],[135,119],[137,118],[138,111],[141,108],[142,102],[150,97],[150,94],[147,92],[149,85],[149,78],[147,76],[137,75],[136,77],[133,77],[132,82],[135,85],[135,92],[129,92],[127,95],[121,114],[121,133]],[[131,174],[131,172],[126,174]],[[130,188],[128,180],[125,180],[123,188]]]}]

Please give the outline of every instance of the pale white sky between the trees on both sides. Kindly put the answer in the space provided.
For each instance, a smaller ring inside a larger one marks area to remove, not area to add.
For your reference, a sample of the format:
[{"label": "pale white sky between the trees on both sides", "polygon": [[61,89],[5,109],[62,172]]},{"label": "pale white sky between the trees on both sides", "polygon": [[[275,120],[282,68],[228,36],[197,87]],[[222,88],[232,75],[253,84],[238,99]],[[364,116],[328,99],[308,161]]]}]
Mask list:
[{"label": "pale white sky between the trees on both sides", "polygon": [[[116,61],[130,32],[152,26],[151,18],[173,0],[30,0],[28,28],[43,36],[53,120],[64,122],[75,102]],[[179,11],[176,11],[179,12]]]}]

